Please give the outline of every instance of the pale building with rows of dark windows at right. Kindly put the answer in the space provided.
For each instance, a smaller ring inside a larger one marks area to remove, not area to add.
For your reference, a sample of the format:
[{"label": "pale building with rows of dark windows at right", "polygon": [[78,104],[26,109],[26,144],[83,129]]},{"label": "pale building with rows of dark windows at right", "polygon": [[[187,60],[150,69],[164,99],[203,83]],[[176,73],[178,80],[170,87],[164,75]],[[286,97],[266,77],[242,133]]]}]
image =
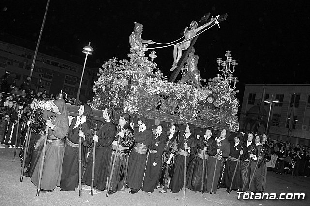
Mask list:
[{"label": "pale building with rows of dark windows at right", "polygon": [[[275,99],[279,103],[272,102]],[[264,100],[271,100],[271,103]],[[294,120],[290,122],[291,116]],[[267,132],[271,139],[310,145],[310,85],[247,84],[241,106],[240,130]]]}]

